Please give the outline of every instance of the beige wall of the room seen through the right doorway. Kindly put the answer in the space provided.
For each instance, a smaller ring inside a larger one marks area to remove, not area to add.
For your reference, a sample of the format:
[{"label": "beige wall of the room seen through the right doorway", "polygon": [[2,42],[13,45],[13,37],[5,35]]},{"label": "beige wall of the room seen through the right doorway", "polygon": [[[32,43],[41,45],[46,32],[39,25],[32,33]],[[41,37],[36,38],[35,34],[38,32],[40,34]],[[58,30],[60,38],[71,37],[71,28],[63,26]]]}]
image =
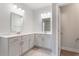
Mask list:
[{"label": "beige wall of the room seen through the right doorway", "polygon": [[62,48],[79,49],[79,4],[61,7]]}]

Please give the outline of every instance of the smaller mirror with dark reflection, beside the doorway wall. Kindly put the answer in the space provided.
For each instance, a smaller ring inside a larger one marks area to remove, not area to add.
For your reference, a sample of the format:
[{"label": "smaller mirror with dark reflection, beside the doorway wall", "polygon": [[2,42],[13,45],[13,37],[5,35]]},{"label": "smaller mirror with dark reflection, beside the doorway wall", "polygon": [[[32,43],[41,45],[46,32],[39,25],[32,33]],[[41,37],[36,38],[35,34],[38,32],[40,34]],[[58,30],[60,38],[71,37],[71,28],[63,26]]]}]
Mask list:
[{"label": "smaller mirror with dark reflection, beside the doorway wall", "polygon": [[43,32],[50,32],[51,31],[51,21],[50,18],[43,18],[42,19],[42,29]]}]

